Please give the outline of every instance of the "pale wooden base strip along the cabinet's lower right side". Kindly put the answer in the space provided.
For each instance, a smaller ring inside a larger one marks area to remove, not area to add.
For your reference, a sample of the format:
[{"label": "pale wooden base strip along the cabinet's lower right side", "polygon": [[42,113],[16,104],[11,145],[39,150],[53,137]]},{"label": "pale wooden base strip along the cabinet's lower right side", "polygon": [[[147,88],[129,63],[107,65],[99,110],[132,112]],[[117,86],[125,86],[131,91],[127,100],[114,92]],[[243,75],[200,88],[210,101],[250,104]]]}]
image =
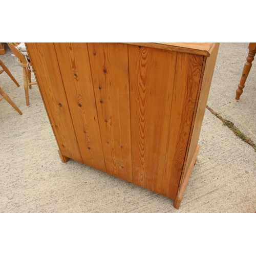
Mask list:
[{"label": "pale wooden base strip along the cabinet's lower right side", "polygon": [[197,156],[198,156],[198,153],[199,153],[199,148],[200,148],[200,145],[197,145],[196,151],[195,151],[195,153],[193,155],[193,158],[192,158],[191,163],[189,165],[189,168],[187,170],[186,177],[184,178],[183,183],[181,184],[181,186],[180,186],[180,188],[178,190],[177,196],[176,196],[176,198],[174,200],[174,204],[173,205],[174,205],[174,207],[176,209],[179,209],[179,207],[180,207],[180,203],[181,203],[181,200],[182,200],[182,198],[184,196],[188,179],[189,179],[190,174],[192,172],[192,169],[193,169],[193,167],[194,167],[194,165],[195,165],[195,163],[197,161]]}]

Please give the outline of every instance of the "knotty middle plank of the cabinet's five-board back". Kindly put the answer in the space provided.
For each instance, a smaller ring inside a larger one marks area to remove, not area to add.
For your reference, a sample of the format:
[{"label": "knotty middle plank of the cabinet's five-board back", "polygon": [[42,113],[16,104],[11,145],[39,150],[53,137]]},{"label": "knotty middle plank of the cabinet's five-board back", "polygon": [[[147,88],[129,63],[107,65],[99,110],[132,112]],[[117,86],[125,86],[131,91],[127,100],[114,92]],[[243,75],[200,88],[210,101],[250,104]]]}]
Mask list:
[{"label": "knotty middle plank of the cabinet's five-board back", "polygon": [[107,173],[132,182],[127,45],[88,44]]}]

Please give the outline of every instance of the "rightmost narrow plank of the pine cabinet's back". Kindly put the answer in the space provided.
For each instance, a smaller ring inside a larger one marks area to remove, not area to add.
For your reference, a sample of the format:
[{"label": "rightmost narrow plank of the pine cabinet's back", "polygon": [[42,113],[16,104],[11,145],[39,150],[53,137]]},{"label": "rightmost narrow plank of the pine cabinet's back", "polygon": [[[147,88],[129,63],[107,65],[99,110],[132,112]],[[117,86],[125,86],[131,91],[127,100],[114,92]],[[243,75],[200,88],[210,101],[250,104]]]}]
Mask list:
[{"label": "rightmost narrow plank of the pine cabinet's back", "polygon": [[175,198],[187,151],[203,56],[177,53],[175,88],[161,194]]}]

